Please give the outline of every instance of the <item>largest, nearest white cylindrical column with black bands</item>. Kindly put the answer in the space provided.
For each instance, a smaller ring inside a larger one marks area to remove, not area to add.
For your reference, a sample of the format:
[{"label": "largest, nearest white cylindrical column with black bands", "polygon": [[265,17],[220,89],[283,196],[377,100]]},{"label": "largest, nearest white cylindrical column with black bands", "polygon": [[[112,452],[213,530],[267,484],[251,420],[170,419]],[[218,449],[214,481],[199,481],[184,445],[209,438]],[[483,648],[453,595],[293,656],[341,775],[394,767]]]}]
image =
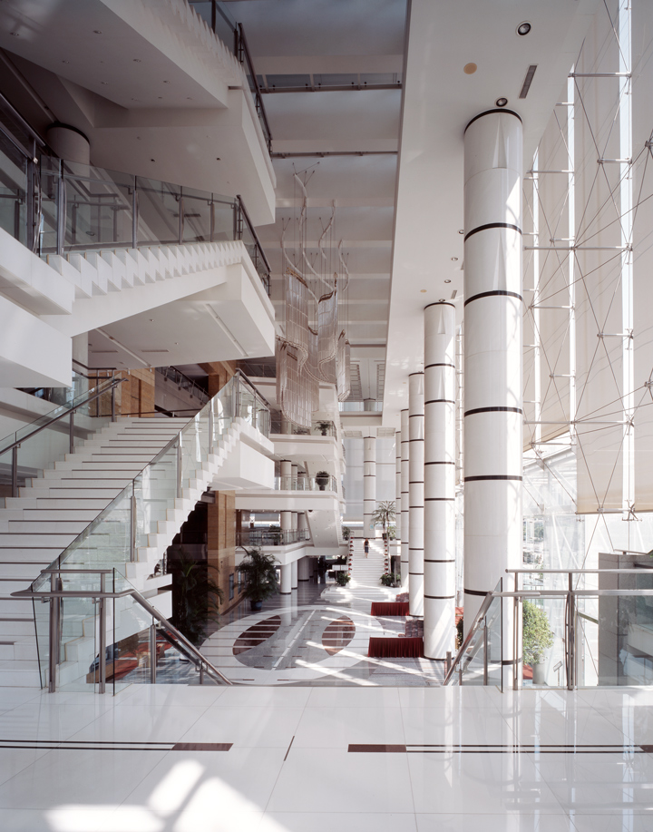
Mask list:
[{"label": "largest, nearest white cylindrical column with black bands", "polygon": [[[521,118],[509,110],[481,113],[465,130],[465,631],[522,559],[521,145]],[[512,601],[502,622],[510,679]]]}]

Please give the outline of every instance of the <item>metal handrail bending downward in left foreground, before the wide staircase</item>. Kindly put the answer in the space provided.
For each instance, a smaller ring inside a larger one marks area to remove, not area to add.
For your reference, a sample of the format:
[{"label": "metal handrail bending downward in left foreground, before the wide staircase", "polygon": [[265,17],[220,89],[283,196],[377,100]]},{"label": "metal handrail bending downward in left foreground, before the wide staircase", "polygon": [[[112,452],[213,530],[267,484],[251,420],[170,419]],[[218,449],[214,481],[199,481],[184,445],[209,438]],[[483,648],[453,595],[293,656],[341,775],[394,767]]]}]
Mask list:
[{"label": "metal handrail bending downward in left foreground, before the wide staircase", "polygon": [[[107,592],[103,589],[103,578],[106,574],[112,574],[114,572],[113,569],[42,569],[41,575],[62,575],[62,574],[75,574],[75,575],[82,575],[82,574],[97,574],[101,577],[101,588],[99,590],[63,590],[61,589],[54,589],[54,586],[47,590],[46,592],[37,592],[32,587],[34,586],[34,582],[30,584],[30,586],[26,590],[18,590],[17,592],[12,592],[11,595],[13,598],[93,598],[97,601],[105,600],[108,598],[124,598],[126,596],[131,595],[135,602],[139,603],[143,610],[151,615],[152,618],[156,619],[161,625],[166,634],[169,637],[169,641],[171,642],[172,646],[183,653],[189,661],[192,661],[196,667],[200,667],[200,674],[203,674],[204,671],[208,672],[210,677],[217,678],[220,681],[224,682],[226,685],[233,685],[233,682],[229,680],[226,676],[224,676],[218,668],[214,667],[211,662],[204,656],[195,645],[189,641],[183,633],[181,633],[174,624],[168,621],[168,619],[161,614],[155,607],[151,605],[139,592],[135,589],[131,584],[128,587],[125,587],[123,590],[116,591],[114,589],[113,592]],[[38,580],[38,579],[37,579]],[[101,642],[101,656],[105,655],[106,649],[106,622],[102,622],[100,624],[100,642]],[[58,649],[58,648],[56,648]],[[50,661],[54,661],[54,653],[51,656]],[[103,663],[102,661],[100,662]],[[52,675],[52,674],[51,674]],[[104,674],[101,673],[101,677]],[[54,677],[53,677],[54,678]],[[51,692],[54,692],[53,687],[51,686]],[[103,690],[100,691],[101,693],[104,692]]]}]

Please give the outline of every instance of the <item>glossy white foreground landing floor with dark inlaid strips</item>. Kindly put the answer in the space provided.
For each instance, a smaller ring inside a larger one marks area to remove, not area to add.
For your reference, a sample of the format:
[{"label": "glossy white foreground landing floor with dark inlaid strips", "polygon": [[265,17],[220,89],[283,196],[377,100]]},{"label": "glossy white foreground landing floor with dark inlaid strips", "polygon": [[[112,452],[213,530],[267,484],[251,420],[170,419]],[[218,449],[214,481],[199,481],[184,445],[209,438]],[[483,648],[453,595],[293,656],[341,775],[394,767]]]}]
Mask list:
[{"label": "glossy white foreground landing floor with dark inlaid strips", "polygon": [[653,690],[0,689],[3,832],[648,832]]}]

